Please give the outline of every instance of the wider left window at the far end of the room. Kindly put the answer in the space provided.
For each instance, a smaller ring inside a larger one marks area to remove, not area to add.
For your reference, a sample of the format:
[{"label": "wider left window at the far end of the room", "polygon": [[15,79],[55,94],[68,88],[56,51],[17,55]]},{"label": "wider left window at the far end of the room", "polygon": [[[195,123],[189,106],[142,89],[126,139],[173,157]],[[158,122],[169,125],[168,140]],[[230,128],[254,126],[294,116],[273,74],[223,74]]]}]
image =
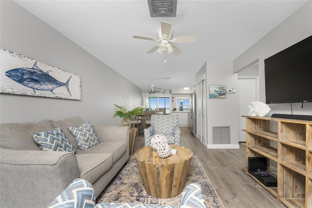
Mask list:
[{"label": "wider left window at the far end of the room", "polygon": [[146,96],[145,110],[170,114],[170,97]]}]

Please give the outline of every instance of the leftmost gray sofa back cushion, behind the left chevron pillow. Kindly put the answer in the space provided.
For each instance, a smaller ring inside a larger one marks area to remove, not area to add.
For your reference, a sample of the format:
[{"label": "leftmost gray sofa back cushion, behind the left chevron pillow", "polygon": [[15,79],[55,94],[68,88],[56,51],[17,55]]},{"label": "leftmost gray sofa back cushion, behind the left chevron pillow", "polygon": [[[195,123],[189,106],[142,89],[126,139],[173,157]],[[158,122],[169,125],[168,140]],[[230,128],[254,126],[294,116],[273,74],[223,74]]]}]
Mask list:
[{"label": "leftmost gray sofa back cushion, behind the left chevron pillow", "polygon": [[0,146],[14,150],[40,150],[40,147],[34,143],[31,133],[48,131],[52,128],[50,120],[39,123],[1,124]]}]

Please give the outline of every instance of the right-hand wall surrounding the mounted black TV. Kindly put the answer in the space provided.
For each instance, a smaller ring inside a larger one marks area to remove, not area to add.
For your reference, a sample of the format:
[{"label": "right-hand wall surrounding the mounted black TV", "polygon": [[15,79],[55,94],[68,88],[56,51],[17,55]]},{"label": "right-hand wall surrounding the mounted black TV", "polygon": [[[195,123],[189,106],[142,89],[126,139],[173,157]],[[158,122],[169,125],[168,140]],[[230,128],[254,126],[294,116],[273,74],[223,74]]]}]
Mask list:
[{"label": "right-hand wall surrounding the mounted black TV", "polygon": [[[300,8],[287,20],[256,42],[234,60],[233,72],[259,60],[259,101],[265,103],[264,60],[312,35],[312,1]],[[311,91],[310,91],[311,93]],[[273,113],[312,115],[312,104],[269,104]],[[292,107],[292,111],[291,111]]]}]

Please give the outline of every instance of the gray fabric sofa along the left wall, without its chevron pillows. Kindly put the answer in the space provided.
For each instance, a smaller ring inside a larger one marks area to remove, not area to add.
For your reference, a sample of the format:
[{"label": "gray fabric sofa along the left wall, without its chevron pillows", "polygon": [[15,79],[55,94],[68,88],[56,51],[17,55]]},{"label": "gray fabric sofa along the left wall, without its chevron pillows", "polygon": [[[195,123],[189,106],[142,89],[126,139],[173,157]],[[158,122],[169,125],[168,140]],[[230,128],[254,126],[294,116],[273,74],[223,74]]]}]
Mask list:
[{"label": "gray fabric sofa along the left wall, without its chevron pillows", "polygon": [[[89,181],[95,196],[102,192],[129,158],[129,128],[92,125],[99,144],[85,150],[68,126],[85,122],[80,117],[61,121],[0,125],[0,207],[43,208],[72,181]],[[32,133],[61,127],[76,153],[42,151]]]}]

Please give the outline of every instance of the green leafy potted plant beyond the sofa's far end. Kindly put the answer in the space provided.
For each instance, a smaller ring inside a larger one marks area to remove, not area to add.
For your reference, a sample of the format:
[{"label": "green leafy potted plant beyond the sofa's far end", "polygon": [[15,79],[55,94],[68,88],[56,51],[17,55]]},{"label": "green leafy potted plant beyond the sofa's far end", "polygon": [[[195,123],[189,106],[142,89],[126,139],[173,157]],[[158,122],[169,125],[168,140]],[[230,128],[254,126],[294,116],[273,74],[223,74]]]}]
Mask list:
[{"label": "green leafy potted plant beyond the sofa's far end", "polygon": [[131,121],[130,121],[130,116],[137,116],[140,114],[143,110],[142,107],[136,107],[132,109],[131,111],[128,111],[128,109],[125,106],[119,106],[117,104],[115,105],[115,114],[114,118],[118,116],[119,118],[122,118],[121,121],[121,126],[128,126],[129,128],[131,127]]}]

